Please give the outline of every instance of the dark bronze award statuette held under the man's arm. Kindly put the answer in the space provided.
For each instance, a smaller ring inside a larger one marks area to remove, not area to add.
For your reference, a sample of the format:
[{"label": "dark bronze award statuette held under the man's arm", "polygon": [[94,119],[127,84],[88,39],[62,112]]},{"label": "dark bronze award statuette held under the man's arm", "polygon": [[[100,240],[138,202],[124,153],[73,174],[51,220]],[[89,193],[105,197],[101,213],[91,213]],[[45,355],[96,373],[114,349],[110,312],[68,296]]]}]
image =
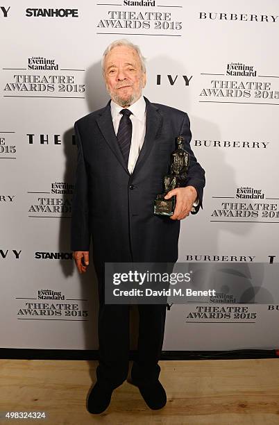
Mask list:
[{"label": "dark bronze award statuette held under the man's arm", "polygon": [[[183,142],[184,139],[182,136],[176,138],[177,149],[171,152],[171,171],[170,174],[164,176],[163,179],[164,193],[158,194],[154,201],[154,214],[156,215],[171,216],[174,214],[176,197],[164,199],[164,196],[170,190],[180,188],[180,185],[183,186],[187,178],[190,156],[189,153],[183,149]],[[194,210],[193,208],[192,210]]]}]

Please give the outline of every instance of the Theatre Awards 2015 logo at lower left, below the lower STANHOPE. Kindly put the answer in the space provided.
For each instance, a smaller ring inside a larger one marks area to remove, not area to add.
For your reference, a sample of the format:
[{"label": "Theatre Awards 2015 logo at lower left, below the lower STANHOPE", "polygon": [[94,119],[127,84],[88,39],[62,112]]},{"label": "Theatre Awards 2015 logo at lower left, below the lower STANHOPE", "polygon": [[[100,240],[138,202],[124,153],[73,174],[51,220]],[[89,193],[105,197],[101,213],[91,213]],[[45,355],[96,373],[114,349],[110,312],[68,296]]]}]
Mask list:
[{"label": "Theatre Awards 2015 logo at lower left, below the lower STANHOPE", "polygon": [[[35,298],[16,297],[23,303],[17,306],[20,320],[82,320],[87,321],[88,310],[84,310],[87,299],[67,299],[60,290],[40,289]],[[25,301],[26,300],[26,301]],[[74,302],[73,301],[77,301]]]}]

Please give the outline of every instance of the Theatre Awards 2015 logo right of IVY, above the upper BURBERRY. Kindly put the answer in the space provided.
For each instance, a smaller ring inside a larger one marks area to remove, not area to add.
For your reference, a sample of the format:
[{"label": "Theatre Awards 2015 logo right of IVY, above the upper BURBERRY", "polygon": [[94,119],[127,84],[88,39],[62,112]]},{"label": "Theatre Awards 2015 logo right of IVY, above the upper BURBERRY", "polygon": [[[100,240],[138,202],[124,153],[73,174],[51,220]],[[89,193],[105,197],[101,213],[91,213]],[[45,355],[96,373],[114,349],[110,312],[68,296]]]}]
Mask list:
[{"label": "Theatre Awards 2015 logo right of IVY, above the upper BURBERRY", "polygon": [[[271,80],[277,76],[259,75],[253,64],[231,62],[223,73],[202,72],[207,83],[199,92],[200,102],[278,104],[279,90]],[[216,75],[221,78],[216,79]],[[229,78],[226,78],[229,77]],[[231,77],[231,78],[230,78]]]}]

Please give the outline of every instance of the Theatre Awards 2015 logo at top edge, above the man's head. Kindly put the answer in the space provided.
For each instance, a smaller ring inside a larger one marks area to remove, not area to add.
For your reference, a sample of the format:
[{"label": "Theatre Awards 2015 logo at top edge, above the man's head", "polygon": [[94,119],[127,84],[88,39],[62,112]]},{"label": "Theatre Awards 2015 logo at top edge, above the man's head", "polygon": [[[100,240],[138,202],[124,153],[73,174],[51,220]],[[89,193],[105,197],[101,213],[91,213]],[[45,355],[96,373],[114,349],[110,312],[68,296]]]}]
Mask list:
[{"label": "Theatre Awards 2015 logo at top edge, above the man's head", "polygon": [[[103,6],[99,4],[97,6]],[[130,35],[135,33],[135,30],[140,31],[141,34],[152,35],[181,35],[183,28],[183,22],[181,21],[181,15],[178,15],[177,9],[170,6],[165,6],[162,11],[161,6],[156,8],[155,1],[131,1],[124,0],[120,5],[115,6],[133,6],[133,9],[123,10],[108,10],[106,14],[99,17],[96,22],[97,34],[107,34],[108,30],[121,30],[125,29]],[[152,6],[151,9],[149,8]],[[179,5],[178,5],[179,6]],[[169,10],[168,10],[169,8]],[[183,8],[183,6],[179,6]],[[178,10],[179,10],[178,8]],[[103,8],[102,8],[103,9]],[[102,12],[104,13],[104,12]],[[113,34],[117,34],[117,31],[113,31]]]}]

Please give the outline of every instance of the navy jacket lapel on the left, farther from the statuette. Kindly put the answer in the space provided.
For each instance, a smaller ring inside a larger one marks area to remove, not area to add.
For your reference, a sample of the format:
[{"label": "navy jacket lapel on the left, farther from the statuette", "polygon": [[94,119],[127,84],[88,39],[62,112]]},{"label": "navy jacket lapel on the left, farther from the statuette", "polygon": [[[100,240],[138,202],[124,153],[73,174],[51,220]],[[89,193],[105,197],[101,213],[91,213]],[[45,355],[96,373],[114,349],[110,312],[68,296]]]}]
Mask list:
[{"label": "navy jacket lapel on the left, farther from the statuette", "polygon": [[112,123],[112,115],[110,112],[110,101],[108,102],[107,106],[105,106],[103,112],[100,113],[99,117],[96,119],[96,122],[99,125],[103,137],[105,138],[105,142],[108,143],[108,146],[115,154],[126,173],[130,175],[115,135],[115,128]]}]

